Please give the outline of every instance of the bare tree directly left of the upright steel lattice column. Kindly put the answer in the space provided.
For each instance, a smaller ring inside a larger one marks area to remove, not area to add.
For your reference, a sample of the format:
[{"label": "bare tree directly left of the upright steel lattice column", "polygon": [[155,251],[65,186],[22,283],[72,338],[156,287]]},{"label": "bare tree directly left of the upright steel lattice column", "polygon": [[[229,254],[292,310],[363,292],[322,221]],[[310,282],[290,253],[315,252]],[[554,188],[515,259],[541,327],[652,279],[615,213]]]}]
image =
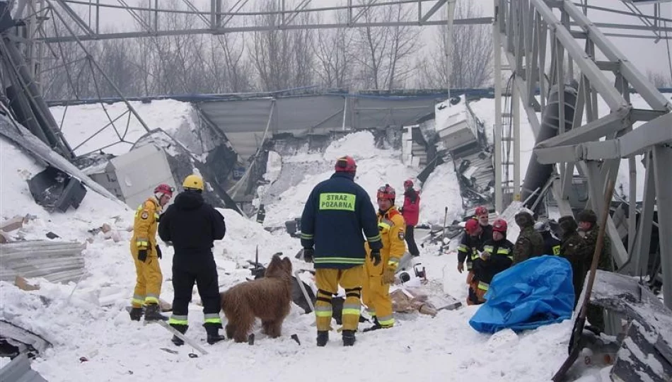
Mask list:
[{"label": "bare tree directly left of the upright steel lattice column", "polygon": [[[455,18],[475,18],[482,11],[472,1],[458,2]],[[421,84],[440,83],[446,86],[447,62],[446,26],[437,28],[434,35],[437,51],[428,52],[418,65]],[[450,86],[477,88],[492,81],[492,33],[489,25],[455,25],[453,27],[453,52]]]}]

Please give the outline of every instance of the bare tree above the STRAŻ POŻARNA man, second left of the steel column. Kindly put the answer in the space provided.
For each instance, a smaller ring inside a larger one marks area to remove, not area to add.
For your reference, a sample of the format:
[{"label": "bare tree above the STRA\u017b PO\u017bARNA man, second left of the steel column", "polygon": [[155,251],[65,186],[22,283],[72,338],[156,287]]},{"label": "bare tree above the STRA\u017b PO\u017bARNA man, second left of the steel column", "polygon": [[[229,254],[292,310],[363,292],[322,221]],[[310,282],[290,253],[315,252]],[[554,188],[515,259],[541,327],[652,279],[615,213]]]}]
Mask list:
[{"label": "bare tree above the STRA\u017b PO\u017bARNA man, second left of the steel column", "polygon": [[[375,2],[359,0],[359,4]],[[363,17],[366,23],[405,21],[411,11],[403,4],[394,4],[365,8]],[[410,64],[410,58],[419,50],[419,28],[399,25],[364,27],[357,32],[355,46],[360,86],[388,90],[401,86],[415,70],[415,66]]]}]

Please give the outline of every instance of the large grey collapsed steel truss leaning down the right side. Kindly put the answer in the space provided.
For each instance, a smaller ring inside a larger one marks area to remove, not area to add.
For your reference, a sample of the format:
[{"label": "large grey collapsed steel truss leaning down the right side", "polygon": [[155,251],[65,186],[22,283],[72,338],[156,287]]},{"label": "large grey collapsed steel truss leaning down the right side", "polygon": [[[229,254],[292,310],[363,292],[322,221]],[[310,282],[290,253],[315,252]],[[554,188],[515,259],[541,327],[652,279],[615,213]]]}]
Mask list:
[{"label": "large grey collapsed steel truss leaning down the right side", "polygon": [[[540,131],[538,113],[545,110],[550,88],[572,81],[566,76],[565,66],[569,66],[569,73],[574,72],[574,66],[580,71],[574,79],[578,81],[579,94],[572,130],[564,132],[564,108],[561,107],[559,134],[537,142],[534,149],[539,163],[556,165],[557,176],[550,190],[561,214],[572,214],[567,200],[577,168],[589,183],[588,207],[601,216],[603,209],[608,208],[602,205],[607,180],[615,180],[621,159],[627,158],[630,166],[628,242],[625,248],[613,220],[608,219],[612,252],[618,266],[627,265],[622,272],[647,274],[649,238],[654,206],[657,207],[663,294],[666,306],[672,308],[672,176],[668,167],[672,163],[671,103],[572,1],[495,0],[494,11],[495,43],[502,47],[514,73],[513,97],[522,103],[535,136]],[[596,59],[598,53],[606,59]],[[613,74],[614,79],[607,74]],[[501,78],[498,73],[495,75]],[[499,91],[501,98],[501,86],[498,88],[495,91]],[[540,90],[538,99],[535,98],[537,89]],[[644,98],[647,108],[632,107],[631,89]],[[564,104],[563,96],[560,91],[560,105]],[[598,96],[609,108],[609,113],[601,117]],[[499,115],[495,120],[499,122],[501,101],[496,112]],[[519,108],[514,108],[514,114],[518,112]],[[633,129],[635,124],[639,126]],[[639,224],[635,220],[637,155],[644,156],[646,166]]]}]

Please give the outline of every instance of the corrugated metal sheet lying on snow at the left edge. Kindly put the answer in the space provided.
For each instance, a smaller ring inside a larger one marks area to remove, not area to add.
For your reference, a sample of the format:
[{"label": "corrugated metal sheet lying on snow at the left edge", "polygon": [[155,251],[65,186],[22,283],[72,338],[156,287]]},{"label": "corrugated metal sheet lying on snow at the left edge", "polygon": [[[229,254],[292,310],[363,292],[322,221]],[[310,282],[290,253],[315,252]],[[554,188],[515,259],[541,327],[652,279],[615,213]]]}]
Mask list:
[{"label": "corrugated metal sheet lying on snow at the left edge", "polygon": [[0,280],[16,276],[44,277],[50,282],[77,281],[84,272],[82,243],[72,241],[13,241],[0,244]]}]

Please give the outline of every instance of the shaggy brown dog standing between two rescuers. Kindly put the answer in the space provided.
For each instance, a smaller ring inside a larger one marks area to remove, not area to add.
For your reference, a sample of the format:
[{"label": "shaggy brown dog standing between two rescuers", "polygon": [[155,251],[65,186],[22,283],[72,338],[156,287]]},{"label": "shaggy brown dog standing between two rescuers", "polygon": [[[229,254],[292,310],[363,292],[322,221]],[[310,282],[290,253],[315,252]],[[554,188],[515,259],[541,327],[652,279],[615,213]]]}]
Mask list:
[{"label": "shaggy brown dog standing between two rescuers", "polygon": [[226,337],[247,341],[255,317],[261,319],[266,335],[279,337],[291,306],[291,282],[291,261],[274,255],[265,277],[242,282],[221,293],[221,309],[228,320]]}]

